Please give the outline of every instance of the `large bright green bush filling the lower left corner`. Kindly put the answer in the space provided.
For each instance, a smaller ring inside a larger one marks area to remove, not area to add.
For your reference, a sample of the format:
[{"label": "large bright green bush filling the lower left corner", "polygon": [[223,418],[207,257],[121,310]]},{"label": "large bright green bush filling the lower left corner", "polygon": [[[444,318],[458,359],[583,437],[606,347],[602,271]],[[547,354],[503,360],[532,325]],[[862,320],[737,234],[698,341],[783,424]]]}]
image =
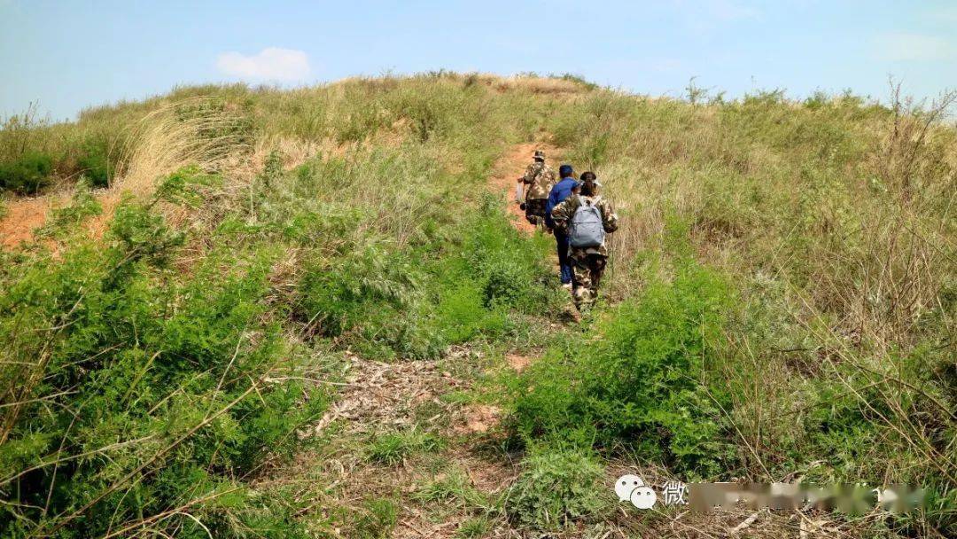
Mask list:
[{"label": "large bright green bush filling the lower left corner", "polygon": [[99,536],[180,506],[215,535],[298,533],[288,507],[256,502],[236,479],[288,456],[326,402],[296,377],[270,377],[296,369],[278,325],[263,324],[272,255],[212,252],[170,280],[182,241],[127,201],[108,247],[36,261],[0,296],[12,353],[2,380],[18,403],[4,410],[0,445],[0,489],[17,501],[0,509],[6,536]]}]

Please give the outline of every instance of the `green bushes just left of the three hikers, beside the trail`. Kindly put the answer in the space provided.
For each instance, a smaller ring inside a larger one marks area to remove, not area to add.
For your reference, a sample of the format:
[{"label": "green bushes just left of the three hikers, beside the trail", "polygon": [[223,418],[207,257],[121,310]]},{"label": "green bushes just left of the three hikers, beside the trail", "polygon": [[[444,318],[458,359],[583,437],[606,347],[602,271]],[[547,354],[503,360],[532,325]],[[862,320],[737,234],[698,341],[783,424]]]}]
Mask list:
[{"label": "green bushes just left of the three hikers, beside the trail", "polygon": [[417,358],[506,334],[509,312],[541,312],[550,304],[544,243],[518,236],[495,205],[458,228],[457,245],[443,247],[440,257],[430,254],[431,242],[411,252],[367,243],[310,264],[296,316],[366,355]]}]

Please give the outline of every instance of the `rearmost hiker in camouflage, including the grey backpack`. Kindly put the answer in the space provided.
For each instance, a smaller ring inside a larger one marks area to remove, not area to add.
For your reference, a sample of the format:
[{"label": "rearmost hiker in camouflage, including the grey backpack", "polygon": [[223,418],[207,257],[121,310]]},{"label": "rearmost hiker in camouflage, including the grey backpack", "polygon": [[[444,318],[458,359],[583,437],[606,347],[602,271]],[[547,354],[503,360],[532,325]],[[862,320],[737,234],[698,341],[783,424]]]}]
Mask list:
[{"label": "rearmost hiker in camouflage, including the grey backpack", "polygon": [[618,215],[612,204],[599,195],[600,187],[595,174],[585,172],[579,192],[551,210],[556,237],[559,230],[568,237],[571,296],[579,310],[598,297],[598,284],[608,263],[605,236],[618,229]]}]

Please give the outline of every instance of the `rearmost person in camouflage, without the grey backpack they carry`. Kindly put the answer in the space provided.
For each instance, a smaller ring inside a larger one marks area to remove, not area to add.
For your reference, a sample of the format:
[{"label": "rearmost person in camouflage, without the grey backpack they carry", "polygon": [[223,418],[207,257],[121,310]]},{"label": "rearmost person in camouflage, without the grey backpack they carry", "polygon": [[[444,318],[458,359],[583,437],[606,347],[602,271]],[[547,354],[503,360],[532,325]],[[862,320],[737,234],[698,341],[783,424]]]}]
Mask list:
[{"label": "rearmost person in camouflage, without the grey backpack they carry", "polygon": [[[593,172],[585,172],[581,177],[579,194],[572,194],[551,211],[555,227],[568,233],[568,221],[583,203],[590,202],[601,212],[602,225],[607,234],[618,229],[618,215],[612,204],[598,195],[600,184]],[[603,241],[597,247],[576,248],[568,246],[568,258],[571,260],[571,295],[575,306],[581,309],[593,303],[598,297],[598,284],[601,282],[605,266],[608,264],[608,246]]]}]

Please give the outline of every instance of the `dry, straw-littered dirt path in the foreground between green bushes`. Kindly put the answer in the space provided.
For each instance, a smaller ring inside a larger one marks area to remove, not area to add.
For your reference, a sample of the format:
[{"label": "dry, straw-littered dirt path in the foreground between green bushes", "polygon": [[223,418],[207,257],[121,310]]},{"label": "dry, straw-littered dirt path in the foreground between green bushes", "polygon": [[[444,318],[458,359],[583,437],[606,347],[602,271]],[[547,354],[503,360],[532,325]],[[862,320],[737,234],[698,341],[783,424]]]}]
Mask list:
[{"label": "dry, straw-littered dirt path in the foreground between green bushes", "polygon": [[439,360],[394,363],[346,352],[341,391],[323,417],[300,432],[328,441],[267,481],[308,478],[320,488],[312,494],[318,514],[343,515],[344,537],[366,536],[364,527],[374,520],[370,504],[382,500],[396,510],[389,537],[456,537],[481,514],[465,499],[494,500],[518,474],[515,463],[483,448],[500,436],[499,408],[447,396],[472,389],[468,366],[480,359],[468,348],[453,348]]}]

